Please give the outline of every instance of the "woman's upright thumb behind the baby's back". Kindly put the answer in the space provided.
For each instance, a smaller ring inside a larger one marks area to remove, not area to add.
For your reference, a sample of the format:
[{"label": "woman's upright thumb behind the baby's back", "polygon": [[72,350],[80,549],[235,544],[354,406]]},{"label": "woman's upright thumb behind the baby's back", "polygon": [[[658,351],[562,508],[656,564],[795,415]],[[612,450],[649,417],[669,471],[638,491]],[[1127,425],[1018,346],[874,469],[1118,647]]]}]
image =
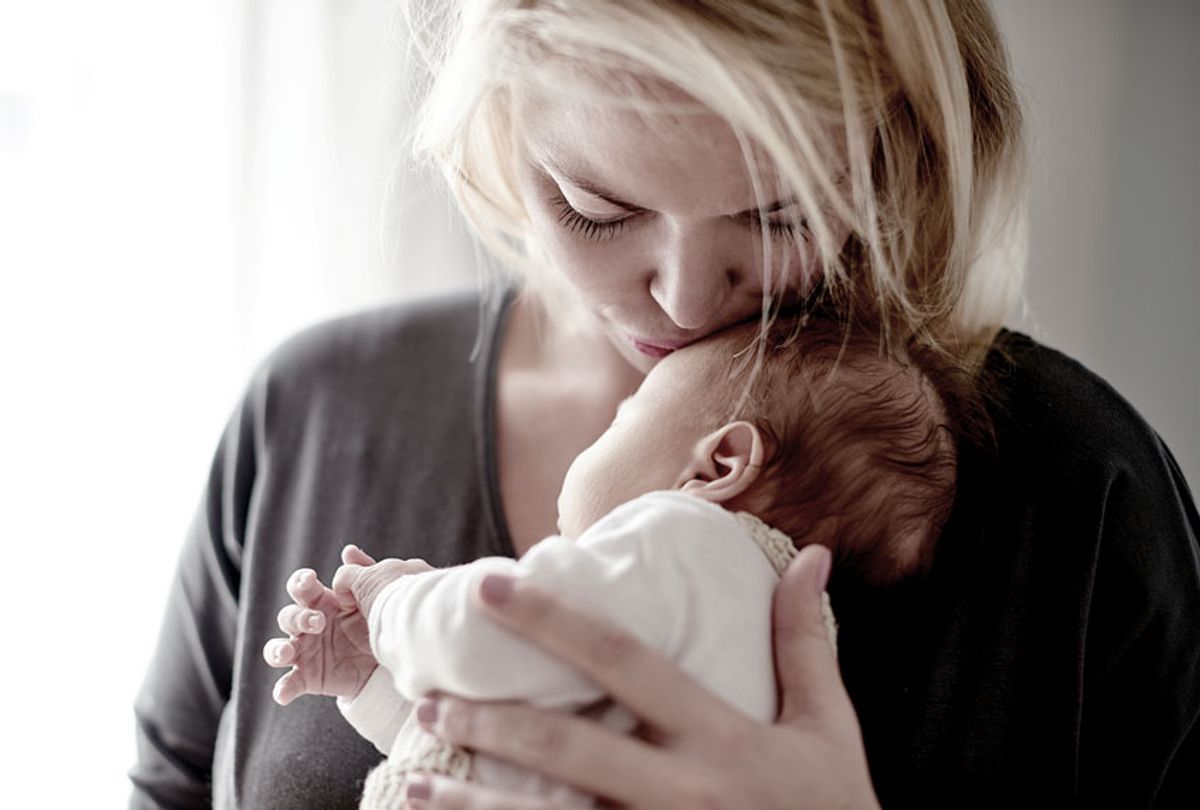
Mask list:
[{"label": "woman's upright thumb behind the baby's back", "polygon": [[780,722],[850,707],[827,620],[824,587],[832,564],[828,548],[808,545],[775,588],[773,626]]}]

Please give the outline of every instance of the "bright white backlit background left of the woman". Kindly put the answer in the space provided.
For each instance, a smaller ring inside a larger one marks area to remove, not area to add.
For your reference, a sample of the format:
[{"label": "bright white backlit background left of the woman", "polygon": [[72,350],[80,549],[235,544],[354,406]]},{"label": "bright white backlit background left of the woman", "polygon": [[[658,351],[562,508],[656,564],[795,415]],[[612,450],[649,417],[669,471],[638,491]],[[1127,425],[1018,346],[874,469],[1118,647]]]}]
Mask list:
[{"label": "bright white backlit background left of the woman", "polygon": [[179,544],[264,353],[474,283],[396,167],[394,30],[355,0],[0,0],[0,805],[124,805]]}]

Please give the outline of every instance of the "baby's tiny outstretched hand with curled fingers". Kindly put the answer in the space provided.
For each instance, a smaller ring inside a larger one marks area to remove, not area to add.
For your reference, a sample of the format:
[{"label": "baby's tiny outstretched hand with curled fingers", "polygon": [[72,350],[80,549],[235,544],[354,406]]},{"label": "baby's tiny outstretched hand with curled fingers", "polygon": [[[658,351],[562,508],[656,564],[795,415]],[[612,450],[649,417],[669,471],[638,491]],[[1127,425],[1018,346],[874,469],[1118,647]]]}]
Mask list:
[{"label": "baby's tiny outstretched hand with curled fingers", "polygon": [[[371,570],[376,562],[355,546],[342,550],[341,572],[348,566]],[[370,566],[370,568],[362,568]],[[287,706],[301,695],[354,697],[379,665],[371,653],[366,613],[356,602],[340,600],[311,569],[288,577],[294,604],[280,611],[280,630],[263,658],[274,667],[292,667],[275,683],[275,701]]]}]

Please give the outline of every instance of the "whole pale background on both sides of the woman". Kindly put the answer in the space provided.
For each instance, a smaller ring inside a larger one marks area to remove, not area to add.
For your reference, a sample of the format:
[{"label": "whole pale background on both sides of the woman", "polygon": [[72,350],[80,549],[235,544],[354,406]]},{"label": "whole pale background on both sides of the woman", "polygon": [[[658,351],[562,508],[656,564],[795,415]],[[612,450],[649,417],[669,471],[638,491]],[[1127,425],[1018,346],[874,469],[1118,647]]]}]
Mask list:
[{"label": "whole pale background on both sides of the woman", "polygon": [[[1020,323],[1193,484],[1198,10],[1000,2],[1038,139]],[[0,0],[5,805],[124,803],[174,557],[262,355],[472,283],[444,198],[397,169],[402,60],[388,0]]]}]

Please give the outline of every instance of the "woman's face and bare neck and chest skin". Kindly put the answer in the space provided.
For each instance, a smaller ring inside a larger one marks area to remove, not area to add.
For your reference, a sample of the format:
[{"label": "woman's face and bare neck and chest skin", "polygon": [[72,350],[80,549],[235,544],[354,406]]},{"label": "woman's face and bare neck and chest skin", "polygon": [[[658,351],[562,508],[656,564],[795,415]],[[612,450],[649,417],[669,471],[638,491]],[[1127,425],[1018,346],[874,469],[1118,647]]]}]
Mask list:
[{"label": "woman's face and bare neck and chest skin", "polygon": [[[571,94],[514,97],[529,235],[582,310],[552,318],[536,302],[517,301],[502,344],[499,480],[518,556],[556,532],[554,498],[568,467],[665,354],[652,344],[677,347],[755,317],[766,281],[788,300],[821,272],[803,233],[772,232],[769,223],[788,222],[794,208],[760,214],[758,203],[787,200],[790,192],[755,193],[722,119],[689,113],[648,125],[590,102],[596,88],[574,92],[586,77],[562,78]],[[619,227],[596,230],[577,217]],[[844,238],[845,226],[833,226]],[[766,274],[764,229],[774,256]]]}]

